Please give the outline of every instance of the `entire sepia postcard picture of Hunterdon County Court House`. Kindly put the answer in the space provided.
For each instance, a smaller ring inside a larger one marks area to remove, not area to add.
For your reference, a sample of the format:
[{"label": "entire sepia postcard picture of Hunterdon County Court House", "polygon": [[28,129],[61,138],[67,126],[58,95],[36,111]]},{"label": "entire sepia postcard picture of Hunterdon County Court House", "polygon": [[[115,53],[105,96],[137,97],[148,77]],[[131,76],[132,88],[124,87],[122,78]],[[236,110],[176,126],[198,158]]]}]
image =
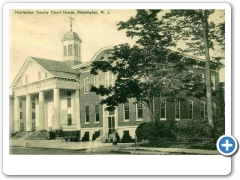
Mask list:
[{"label": "entire sepia postcard picture of Hunterdon County Court House", "polygon": [[9,17],[9,154],[220,154],[224,9]]}]

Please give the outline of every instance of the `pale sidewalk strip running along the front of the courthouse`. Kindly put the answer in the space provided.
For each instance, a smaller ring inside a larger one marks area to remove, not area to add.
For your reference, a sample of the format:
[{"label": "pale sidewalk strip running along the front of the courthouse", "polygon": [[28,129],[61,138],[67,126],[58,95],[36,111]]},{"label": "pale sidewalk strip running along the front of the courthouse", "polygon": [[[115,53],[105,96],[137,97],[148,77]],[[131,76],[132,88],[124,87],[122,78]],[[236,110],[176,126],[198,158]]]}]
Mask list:
[{"label": "pale sidewalk strip running along the front of the courthouse", "polygon": [[65,150],[95,150],[105,152],[110,151],[114,154],[138,154],[138,155],[220,155],[217,150],[203,149],[185,149],[185,148],[152,148],[152,147],[134,147],[133,143],[101,143],[93,142],[65,142],[61,140],[10,140],[12,147],[29,148],[47,148],[47,149],[65,149]]}]

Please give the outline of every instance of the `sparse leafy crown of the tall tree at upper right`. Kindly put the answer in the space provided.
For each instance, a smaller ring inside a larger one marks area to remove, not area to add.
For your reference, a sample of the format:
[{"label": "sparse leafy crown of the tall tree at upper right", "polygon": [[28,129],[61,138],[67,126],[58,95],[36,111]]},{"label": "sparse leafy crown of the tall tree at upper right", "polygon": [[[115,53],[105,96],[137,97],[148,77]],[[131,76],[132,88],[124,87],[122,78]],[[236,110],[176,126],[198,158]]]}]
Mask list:
[{"label": "sparse leafy crown of the tall tree at upper right", "polygon": [[[219,11],[219,10],[218,10]],[[208,49],[215,49],[214,46],[225,45],[225,22],[211,21],[211,16],[216,10],[171,10],[163,18],[169,24],[171,36],[175,41],[183,40],[187,48],[179,50],[183,53],[191,53],[195,56],[205,55]],[[223,12],[220,12],[224,16]],[[224,19],[224,17],[223,17]],[[204,32],[206,31],[206,40],[208,49],[204,45]],[[218,42],[218,43],[216,43]]]}]

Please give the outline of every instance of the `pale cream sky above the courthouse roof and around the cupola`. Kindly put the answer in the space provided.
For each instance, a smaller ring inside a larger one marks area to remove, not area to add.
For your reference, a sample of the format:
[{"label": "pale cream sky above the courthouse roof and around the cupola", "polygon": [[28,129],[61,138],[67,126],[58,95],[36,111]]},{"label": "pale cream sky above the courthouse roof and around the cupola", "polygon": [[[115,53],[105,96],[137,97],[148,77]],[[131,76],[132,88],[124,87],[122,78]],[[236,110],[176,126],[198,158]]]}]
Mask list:
[{"label": "pale cream sky above the courthouse roof and around the cupola", "polygon": [[[64,34],[70,31],[70,15],[63,14],[65,10],[41,9],[39,12],[37,9],[30,10],[34,14],[18,14],[16,11],[24,10],[10,11],[10,83],[29,56],[62,61],[61,40]],[[52,14],[53,11],[55,14]],[[59,11],[61,14],[56,14]],[[92,11],[97,14],[90,13]],[[104,14],[101,11],[104,11]],[[72,14],[74,18],[72,29],[82,40],[82,62],[90,61],[101,48],[134,43],[132,39],[126,37],[124,30],[118,31],[117,23],[134,17],[136,10],[101,11],[73,10],[75,14]],[[214,16],[213,20],[217,21],[218,17]]]}]

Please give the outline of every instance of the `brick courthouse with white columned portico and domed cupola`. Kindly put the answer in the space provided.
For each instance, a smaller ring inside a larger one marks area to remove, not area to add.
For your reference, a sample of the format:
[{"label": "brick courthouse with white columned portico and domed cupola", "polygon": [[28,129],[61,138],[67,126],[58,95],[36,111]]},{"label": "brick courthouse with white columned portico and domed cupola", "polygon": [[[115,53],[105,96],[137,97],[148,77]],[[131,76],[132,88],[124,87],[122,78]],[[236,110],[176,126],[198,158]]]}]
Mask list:
[{"label": "brick courthouse with white columned portico and domed cupola", "polygon": [[[148,108],[130,99],[118,105],[115,111],[108,112],[104,110],[106,106],[100,104],[102,97],[90,92],[92,85],[114,84],[115,77],[110,72],[90,74],[91,62],[107,60],[113,49],[103,48],[83,63],[82,41],[77,33],[66,33],[62,44],[62,61],[28,57],[12,82],[11,132],[79,131],[80,139],[86,136],[92,140],[95,132],[99,132],[102,139],[109,139],[117,131],[120,138],[124,133],[134,138],[137,126],[150,120]],[[194,75],[201,74],[204,80],[204,60],[190,56],[184,58],[195,62],[189,70]],[[219,66],[212,66],[214,90],[219,88],[218,70]],[[219,111],[218,101],[214,101],[216,115]],[[160,110],[159,120],[180,121],[206,116],[205,98],[188,97],[183,102],[169,103],[163,97],[156,107]]]}]

